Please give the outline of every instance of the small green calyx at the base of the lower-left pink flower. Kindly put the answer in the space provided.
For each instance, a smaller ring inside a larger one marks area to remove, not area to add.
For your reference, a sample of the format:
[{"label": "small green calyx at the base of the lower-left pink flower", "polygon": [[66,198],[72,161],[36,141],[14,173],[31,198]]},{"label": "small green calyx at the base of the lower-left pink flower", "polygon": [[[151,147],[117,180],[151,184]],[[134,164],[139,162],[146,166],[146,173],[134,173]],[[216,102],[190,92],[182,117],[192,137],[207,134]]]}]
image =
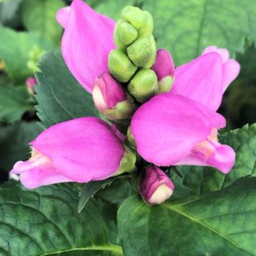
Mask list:
[{"label": "small green calyx at the base of the lower-left pink flower", "polygon": [[119,170],[115,172],[115,175],[120,175],[124,172],[130,172],[135,169],[136,151],[134,149],[130,149],[127,145],[124,145],[124,147],[126,149],[126,153],[122,157]]}]

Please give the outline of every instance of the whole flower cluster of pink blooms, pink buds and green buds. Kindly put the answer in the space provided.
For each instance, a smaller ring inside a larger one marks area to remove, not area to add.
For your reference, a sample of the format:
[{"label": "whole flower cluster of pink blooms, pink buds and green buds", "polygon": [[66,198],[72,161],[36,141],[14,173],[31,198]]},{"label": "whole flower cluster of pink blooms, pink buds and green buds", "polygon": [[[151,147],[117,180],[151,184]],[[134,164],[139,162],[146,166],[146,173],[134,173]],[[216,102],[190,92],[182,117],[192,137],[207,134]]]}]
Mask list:
[{"label": "whole flower cluster of pink blooms, pink buds and green buds", "polygon": [[31,158],[11,171],[24,186],[88,183],[137,170],[141,195],[153,205],[174,190],[161,167],[190,164],[231,171],[235,152],[218,141],[226,122],[216,113],[239,73],[226,49],[207,47],[175,68],[168,51],[156,51],[146,11],[126,6],[115,23],[73,0],[58,11],[57,20],[65,29],[66,65],[112,125],[85,117],[43,131],[30,143]]}]

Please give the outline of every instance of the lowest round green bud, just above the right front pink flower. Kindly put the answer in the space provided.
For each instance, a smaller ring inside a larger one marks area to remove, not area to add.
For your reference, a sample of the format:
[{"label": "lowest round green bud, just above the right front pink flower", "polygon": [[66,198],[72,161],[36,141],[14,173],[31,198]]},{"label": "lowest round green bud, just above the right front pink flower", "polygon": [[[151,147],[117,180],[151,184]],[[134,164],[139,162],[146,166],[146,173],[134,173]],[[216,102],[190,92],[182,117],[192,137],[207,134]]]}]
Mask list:
[{"label": "lowest round green bud, just above the right front pink flower", "polygon": [[128,91],[140,103],[149,100],[158,91],[156,73],[149,69],[138,71],[130,81]]}]

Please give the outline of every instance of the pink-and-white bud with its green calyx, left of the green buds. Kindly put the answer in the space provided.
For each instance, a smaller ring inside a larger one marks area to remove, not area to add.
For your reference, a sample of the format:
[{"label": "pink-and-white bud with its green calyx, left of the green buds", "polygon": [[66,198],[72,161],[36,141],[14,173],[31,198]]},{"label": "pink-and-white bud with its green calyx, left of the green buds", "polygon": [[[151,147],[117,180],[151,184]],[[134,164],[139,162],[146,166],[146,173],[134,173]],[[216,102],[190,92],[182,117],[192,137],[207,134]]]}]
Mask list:
[{"label": "pink-and-white bud with its green calyx, left of the green buds", "polygon": [[92,99],[96,108],[107,119],[129,119],[134,112],[133,104],[127,100],[126,91],[109,73],[96,77]]}]

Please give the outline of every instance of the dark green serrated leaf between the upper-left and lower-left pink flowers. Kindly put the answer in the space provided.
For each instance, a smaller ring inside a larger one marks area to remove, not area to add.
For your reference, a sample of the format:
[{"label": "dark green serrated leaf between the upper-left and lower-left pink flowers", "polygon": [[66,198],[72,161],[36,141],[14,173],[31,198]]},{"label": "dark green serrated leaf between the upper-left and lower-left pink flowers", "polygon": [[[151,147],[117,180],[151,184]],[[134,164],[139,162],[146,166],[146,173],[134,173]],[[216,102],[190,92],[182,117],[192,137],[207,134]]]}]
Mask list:
[{"label": "dark green serrated leaf between the upper-left and lower-left pink flowers", "polygon": [[92,95],[72,76],[60,51],[44,55],[37,73],[38,116],[43,127],[83,116],[97,116]]}]

